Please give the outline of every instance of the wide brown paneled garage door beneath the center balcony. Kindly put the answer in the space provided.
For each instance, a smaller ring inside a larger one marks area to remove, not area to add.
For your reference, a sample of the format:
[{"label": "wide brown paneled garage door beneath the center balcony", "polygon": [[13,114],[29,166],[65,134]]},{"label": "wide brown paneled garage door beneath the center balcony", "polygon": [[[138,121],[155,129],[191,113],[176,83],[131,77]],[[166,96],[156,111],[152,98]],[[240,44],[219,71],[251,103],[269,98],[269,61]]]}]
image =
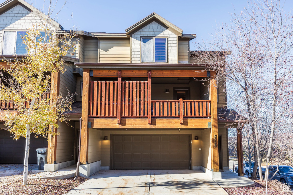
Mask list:
[{"label": "wide brown paneled garage door beneath the center balcony", "polygon": [[189,169],[190,134],[112,134],[113,169]]}]

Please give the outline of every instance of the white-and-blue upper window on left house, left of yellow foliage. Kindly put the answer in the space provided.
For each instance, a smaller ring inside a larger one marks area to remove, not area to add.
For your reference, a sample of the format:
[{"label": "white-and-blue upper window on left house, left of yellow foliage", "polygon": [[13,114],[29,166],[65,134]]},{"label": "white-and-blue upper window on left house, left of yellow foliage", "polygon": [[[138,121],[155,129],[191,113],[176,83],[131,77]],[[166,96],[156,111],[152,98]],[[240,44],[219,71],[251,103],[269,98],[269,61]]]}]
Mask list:
[{"label": "white-and-blue upper window on left house, left of yellow foliage", "polygon": [[3,55],[24,55],[28,51],[25,49],[26,45],[23,43],[22,37],[26,32],[23,31],[5,31],[3,40]]}]

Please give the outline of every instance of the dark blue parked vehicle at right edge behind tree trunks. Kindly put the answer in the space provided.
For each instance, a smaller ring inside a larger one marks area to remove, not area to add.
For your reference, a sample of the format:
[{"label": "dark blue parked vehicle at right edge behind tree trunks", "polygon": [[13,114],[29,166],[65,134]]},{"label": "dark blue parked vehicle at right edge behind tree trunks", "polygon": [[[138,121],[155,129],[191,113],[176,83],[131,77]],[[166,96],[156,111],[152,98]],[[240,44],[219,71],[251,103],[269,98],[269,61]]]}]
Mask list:
[{"label": "dark blue parked vehicle at right edge behind tree trunks", "polygon": [[[269,178],[271,178],[277,171],[278,165],[270,165],[269,167]],[[262,168],[263,175],[265,175],[265,168]],[[288,183],[293,186],[293,168],[287,165],[279,165],[279,171],[272,178],[273,180],[278,180],[283,184]]]}]

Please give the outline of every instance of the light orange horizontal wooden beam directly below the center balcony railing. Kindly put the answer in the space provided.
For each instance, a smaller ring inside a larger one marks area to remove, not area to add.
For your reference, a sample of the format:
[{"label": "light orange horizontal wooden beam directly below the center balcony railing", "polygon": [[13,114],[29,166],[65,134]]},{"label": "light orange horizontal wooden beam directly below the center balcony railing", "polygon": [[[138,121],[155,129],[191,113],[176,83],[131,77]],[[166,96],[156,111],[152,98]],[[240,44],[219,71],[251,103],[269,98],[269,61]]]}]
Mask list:
[{"label": "light orange horizontal wooden beam directly below the center balcony railing", "polygon": [[97,129],[133,129],[133,128],[146,128],[146,129],[173,129],[173,128],[208,128],[208,122],[211,122],[210,118],[188,118],[183,119],[183,124],[179,123],[179,118],[157,118],[152,119],[151,124],[148,123],[148,118],[122,118],[121,124],[117,124],[115,118],[89,118],[91,122],[91,128]]}]

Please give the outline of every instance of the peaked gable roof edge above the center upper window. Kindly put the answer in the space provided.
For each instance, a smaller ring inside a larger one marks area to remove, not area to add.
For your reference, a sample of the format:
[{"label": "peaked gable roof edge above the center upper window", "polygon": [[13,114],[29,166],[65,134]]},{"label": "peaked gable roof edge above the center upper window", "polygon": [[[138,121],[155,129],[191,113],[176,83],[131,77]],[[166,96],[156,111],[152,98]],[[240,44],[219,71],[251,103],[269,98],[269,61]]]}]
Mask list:
[{"label": "peaked gable roof edge above the center upper window", "polygon": [[132,34],[133,32],[136,32],[137,29],[140,29],[142,27],[144,27],[145,25],[151,23],[153,20],[158,21],[159,23],[162,23],[163,25],[165,25],[171,32],[181,36],[183,33],[183,30],[180,29],[179,27],[175,26],[174,24],[172,24],[171,22],[169,22],[168,20],[166,20],[165,18],[163,18],[162,16],[158,15],[157,13],[153,12],[150,15],[148,15],[147,17],[143,18],[142,20],[138,21],[137,23],[135,23],[134,25],[132,25],[131,27],[127,28],[126,34]]}]

